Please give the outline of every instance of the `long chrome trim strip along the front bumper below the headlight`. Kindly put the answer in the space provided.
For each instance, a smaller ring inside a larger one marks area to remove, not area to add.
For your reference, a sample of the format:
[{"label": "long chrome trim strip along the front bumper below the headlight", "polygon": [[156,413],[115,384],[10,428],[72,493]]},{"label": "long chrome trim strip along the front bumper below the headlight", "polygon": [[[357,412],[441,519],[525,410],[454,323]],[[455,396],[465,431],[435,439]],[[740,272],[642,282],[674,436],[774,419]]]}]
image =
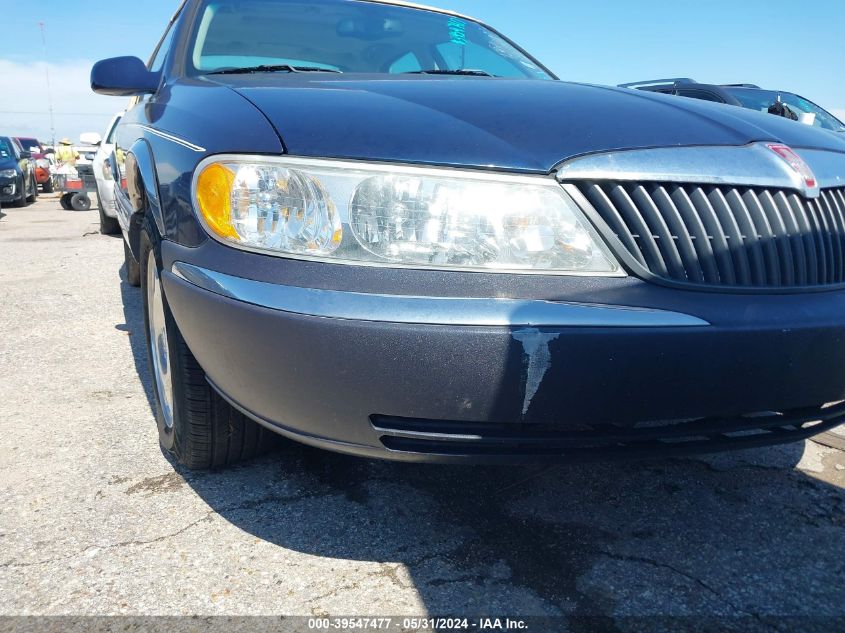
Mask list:
[{"label": "long chrome trim strip along the front bumper below the headlight", "polygon": [[470,326],[700,327],[687,314],[586,303],[416,297],[283,286],[174,262],[180,279],[230,299],[293,314],[386,323]]}]

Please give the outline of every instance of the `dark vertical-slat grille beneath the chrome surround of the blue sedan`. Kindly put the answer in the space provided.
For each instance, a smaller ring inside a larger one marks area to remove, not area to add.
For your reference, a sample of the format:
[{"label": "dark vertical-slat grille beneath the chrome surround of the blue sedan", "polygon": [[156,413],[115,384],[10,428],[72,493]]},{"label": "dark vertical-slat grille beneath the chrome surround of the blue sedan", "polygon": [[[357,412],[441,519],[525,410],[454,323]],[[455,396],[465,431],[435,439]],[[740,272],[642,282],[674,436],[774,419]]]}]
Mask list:
[{"label": "dark vertical-slat grille beneath the chrome surround of the blue sedan", "polygon": [[573,182],[648,272],[743,288],[845,282],[845,188],[788,189]]}]

